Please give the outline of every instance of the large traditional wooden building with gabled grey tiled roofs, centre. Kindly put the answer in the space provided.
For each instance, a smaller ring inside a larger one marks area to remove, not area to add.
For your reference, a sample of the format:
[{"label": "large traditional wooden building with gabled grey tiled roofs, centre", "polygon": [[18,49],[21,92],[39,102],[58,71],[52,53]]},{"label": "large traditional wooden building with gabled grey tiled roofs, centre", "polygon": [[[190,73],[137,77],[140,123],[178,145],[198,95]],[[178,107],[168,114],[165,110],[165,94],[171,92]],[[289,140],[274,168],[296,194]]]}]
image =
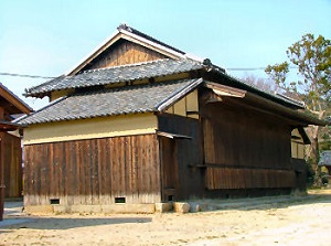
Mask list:
[{"label": "large traditional wooden building with gabled grey tiled roofs, centre", "polygon": [[305,189],[303,127],[323,125],[127,25],[26,96],[51,100],[19,121],[31,210],[290,193]]}]

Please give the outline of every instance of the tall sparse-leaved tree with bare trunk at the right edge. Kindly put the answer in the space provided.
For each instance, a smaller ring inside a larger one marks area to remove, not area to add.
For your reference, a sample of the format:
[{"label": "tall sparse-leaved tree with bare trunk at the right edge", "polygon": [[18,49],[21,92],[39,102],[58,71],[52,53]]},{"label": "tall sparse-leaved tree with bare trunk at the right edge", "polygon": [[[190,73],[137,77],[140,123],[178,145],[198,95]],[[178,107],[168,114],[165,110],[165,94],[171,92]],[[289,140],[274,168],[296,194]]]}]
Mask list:
[{"label": "tall sparse-leaved tree with bare trunk at the right edge", "polygon": [[[313,34],[306,34],[288,47],[286,53],[291,64],[298,68],[298,81],[287,82],[290,67],[288,62],[269,65],[265,72],[286,92],[299,96],[306,103],[308,110],[316,114],[319,119],[323,119],[331,104],[331,41],[322,35],[314,39]],[[318,126],[308,129],[312,142],[308,158],[318,174],[316,185],[321,183],[318,168],[320,131],[321,128]]]}]

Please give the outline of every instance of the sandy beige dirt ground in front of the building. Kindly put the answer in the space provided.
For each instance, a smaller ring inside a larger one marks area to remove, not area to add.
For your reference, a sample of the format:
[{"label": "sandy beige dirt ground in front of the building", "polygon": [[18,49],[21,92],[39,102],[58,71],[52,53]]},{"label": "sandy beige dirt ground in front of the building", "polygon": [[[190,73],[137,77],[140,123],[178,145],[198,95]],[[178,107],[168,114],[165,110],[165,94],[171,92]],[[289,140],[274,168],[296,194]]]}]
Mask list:
[{"label": "sandy beige dirt ground in front of the building", "polygon": [[7,206],[0,245],[331,245],[331,190],[238,201],[189,214],[28,216]]}]

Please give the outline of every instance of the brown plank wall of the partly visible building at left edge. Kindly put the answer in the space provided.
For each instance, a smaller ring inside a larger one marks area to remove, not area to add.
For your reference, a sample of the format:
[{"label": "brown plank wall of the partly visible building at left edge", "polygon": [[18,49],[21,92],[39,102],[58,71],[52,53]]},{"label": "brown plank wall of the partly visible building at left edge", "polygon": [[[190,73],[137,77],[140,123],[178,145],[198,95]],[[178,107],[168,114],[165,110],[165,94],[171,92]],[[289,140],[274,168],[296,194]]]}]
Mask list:
[{"label": "brown plank wall of the partly visible building at left edge", "polygon": [[1,162],[4,168],[4,196],[22,196],[22,148],[21,139],[7,132],[0,133]]}]

